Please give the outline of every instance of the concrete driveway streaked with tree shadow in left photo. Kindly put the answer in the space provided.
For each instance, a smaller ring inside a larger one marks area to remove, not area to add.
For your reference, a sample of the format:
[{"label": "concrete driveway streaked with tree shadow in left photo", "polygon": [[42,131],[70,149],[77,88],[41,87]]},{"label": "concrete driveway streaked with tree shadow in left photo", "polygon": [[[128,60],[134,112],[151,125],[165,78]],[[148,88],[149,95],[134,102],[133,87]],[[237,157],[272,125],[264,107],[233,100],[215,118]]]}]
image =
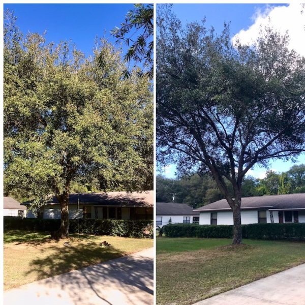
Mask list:
[{"label": "concrete driveway streaked with tree shadow in left photo", "polygon": [[5,305],[153,305],[154,248],[4,292]]}]

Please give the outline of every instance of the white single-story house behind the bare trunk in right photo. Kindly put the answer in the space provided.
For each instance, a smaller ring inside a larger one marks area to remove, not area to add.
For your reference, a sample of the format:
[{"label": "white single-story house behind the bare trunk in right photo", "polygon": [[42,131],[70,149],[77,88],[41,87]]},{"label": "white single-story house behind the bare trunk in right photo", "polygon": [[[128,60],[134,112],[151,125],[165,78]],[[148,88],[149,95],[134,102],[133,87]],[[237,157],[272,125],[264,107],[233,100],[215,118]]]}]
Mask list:
[{"label": "white single-story house behind the bare trunk in right photo", "polygon": [[[204,205],[200,225],[233,225],[233,213],[226,199]],[[241,198],[241,224],[305,223],[305,193]]]}]

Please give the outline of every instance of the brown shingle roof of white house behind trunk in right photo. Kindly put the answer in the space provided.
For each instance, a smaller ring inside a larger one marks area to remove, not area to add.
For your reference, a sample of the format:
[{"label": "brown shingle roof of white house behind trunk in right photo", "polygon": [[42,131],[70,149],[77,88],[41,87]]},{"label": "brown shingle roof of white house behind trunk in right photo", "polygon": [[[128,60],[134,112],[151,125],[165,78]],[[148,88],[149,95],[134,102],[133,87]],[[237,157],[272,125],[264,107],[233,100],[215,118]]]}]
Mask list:
[{"label": "brown shingle roof of white house behind trunk in right photo", "polygon": [[[268,209],[298,209],[305,208],[305,193],[255,196],[241,198],[241,209],[262,208]],[[204,205],[196,211],[224,210],[231,209],[226,199]]]}]

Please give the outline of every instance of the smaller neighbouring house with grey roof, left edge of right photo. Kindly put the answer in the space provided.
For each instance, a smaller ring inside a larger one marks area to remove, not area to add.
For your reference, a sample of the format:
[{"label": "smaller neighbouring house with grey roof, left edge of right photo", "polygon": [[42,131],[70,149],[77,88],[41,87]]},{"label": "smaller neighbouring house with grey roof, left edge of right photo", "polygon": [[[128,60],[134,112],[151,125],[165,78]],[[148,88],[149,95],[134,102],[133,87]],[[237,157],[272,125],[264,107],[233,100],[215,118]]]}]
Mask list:
[{"label": "smaller neighbouring house with grey roof, left edge of right photo", "polygon": [[199,212],[184,203],[156,203],[156,226],[164,226],[171,220],[172,224],[199,223]]}]

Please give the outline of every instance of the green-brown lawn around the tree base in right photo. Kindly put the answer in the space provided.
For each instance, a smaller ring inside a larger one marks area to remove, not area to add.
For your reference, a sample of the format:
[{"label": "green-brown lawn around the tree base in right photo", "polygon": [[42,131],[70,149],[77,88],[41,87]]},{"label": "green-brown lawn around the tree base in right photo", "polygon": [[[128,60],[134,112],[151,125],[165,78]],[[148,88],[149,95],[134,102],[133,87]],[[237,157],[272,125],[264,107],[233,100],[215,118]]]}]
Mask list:
[{"label": "green-brown lawn around the tree base in right photo", "polygon": [[157,304],[193,304],[305,263],[305,242],[157,237]]}]

